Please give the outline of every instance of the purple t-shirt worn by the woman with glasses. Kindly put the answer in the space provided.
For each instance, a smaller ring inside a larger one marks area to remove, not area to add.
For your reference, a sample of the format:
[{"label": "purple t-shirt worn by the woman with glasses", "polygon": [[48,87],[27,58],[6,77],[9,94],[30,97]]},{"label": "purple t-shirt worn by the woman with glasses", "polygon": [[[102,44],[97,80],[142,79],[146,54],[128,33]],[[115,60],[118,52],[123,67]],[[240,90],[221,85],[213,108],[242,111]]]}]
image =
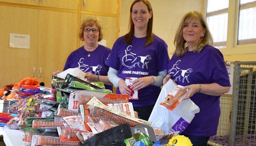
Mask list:
[{"label": "purple t-shirt worn by the woman with glasses", "polygon": [[[106,76],[109,67],[104,62],[110,51],[109,48],[99,44],[94,51],[89,52],[90,57],[88,57],[88,52],[84,49],[84,46],[80,47],[69,55],[63,71],[69,68],[79,68],[83,72]],[[113,91],[112,86],[105,85],[105,88]]]}]

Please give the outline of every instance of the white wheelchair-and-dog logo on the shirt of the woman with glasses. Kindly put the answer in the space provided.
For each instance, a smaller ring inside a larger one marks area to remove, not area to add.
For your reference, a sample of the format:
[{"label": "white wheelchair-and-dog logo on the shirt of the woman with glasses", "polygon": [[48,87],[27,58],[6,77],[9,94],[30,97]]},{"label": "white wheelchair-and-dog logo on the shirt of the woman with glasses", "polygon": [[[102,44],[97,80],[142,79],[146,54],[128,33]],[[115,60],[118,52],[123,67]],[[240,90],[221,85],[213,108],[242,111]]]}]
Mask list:
[{"label": "white wheelchair-and-dog logo on the shirt of the woman with glasses", "polygon": [[101,65],[97,65],[97,66],[89,66],[83,63],[84,62],[84,58],[80,58],[78,63],[78,68],[80,70],[82,70],[83,72],[88,72],[88,73],[93,73],[93,74],[97,74],[100,75],[100,70],[102,69]]}]

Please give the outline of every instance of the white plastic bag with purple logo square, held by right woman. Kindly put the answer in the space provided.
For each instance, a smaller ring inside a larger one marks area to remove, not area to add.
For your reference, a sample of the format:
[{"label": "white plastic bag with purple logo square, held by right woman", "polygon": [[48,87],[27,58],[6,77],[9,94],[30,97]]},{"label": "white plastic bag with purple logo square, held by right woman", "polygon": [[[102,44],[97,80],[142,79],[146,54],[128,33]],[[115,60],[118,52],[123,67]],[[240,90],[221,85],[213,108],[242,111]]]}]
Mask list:
[{"label": "white plastic bag with purple logo square, held by right woman", "polygon": [[148,121],[152,122],[152,127],[162,128],[165,134],[184,131],[193,120],[195,114],[200,111],[199,107],[191,99],[181,101],[173,111],[160,106],[160,103],[175,87],[176,84],[171,79],[162,87],[148,119]]}]

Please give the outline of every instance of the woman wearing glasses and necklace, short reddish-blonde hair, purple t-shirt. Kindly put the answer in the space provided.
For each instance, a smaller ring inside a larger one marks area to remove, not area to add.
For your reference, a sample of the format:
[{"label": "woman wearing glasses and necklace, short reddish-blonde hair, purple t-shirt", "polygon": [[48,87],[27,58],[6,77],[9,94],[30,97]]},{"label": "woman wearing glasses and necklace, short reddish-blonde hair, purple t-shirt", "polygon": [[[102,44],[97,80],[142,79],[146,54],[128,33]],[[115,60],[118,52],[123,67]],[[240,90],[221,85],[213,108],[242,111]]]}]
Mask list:
[{"label": "woman wearing glasses and necklace, short reddish-blonde hair, purple t-shirt", "polygon": [[[85,78],[88,81],[101,81],[106,89],[112,91],[113,87],[107,76],[109,67],[104,63],[111,50],[98,44],[98,41],[103,38],[101,29],[99,19],[96,17],[83,21],[79,38],[84,41],[84,46],[69,55],[63,71],[69,68],[79,68],[86,73]],[[54,72],[53,75],[57,73],[59,71]]]}]

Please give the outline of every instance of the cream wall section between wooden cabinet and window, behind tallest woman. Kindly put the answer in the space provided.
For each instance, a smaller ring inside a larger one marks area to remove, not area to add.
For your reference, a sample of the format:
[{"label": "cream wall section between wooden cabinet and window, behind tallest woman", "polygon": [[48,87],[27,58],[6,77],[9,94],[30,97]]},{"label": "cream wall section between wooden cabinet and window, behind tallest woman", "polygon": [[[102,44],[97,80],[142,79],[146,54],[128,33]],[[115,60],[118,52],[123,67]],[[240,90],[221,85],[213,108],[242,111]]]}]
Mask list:
[{"label": "cream wall section between wooden cabinet and window, behind tallest woman", "polygon": [[[149,0],[153,8],[153,33],[165,40],[168,53],[175,48],[173,40],[183,15],[189,11],[205,14],[205,0]],[[120,36],[128,32],[130,6],[133,0],[122,0],[120,14]]]}]

